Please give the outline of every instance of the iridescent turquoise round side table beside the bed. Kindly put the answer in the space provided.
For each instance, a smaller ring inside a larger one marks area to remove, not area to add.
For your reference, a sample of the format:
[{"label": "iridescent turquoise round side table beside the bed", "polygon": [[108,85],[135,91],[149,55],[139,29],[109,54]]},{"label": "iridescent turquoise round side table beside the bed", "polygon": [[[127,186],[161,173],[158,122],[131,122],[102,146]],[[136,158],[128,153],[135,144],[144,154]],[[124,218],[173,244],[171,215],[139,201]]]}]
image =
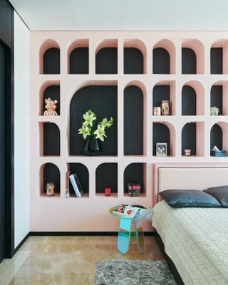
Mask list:
[{"label": "iridescent turquoise round side table beside the bed", "polygon": [[[109,212],[115,218],[120,219],[120,229],[118,232],[118,249],[122,254],[126,254],[129,249],[130,237],[136,237],[138,250],[140,253],[145,252],[144,234],[142,229],[142,219],[151,219],[152,213],[148,213],[146,217],[124,217],[113,213],[110,208]],[[132,224],[134,224],[135,232],[132,232]]]}]

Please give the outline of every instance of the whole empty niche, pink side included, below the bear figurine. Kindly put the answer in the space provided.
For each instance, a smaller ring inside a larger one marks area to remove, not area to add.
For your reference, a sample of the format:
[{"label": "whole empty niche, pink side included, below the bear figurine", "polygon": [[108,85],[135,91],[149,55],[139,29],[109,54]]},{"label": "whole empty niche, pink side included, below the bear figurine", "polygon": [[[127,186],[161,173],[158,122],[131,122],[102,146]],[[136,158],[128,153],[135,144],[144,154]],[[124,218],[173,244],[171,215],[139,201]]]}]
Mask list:
[{"label": "whole empty niche, pink side included, below the bear figurine", "polygon": [[41,156],[60,155],[60,131],[58,125],[52,122],[39,123]]}]

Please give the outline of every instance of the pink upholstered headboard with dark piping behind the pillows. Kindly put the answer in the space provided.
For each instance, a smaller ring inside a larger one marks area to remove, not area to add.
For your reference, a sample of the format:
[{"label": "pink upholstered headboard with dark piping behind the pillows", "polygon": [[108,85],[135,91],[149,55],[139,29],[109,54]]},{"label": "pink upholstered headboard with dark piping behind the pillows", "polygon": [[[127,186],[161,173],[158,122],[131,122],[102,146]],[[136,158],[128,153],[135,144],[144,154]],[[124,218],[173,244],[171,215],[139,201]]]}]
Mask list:
[{"label": "pink upholstered headboard with dark piping behind the pillows", "polygon": [[168,189],[204,190],[228,185],[228,164],[157,164],[153,173],[153,205]]}]

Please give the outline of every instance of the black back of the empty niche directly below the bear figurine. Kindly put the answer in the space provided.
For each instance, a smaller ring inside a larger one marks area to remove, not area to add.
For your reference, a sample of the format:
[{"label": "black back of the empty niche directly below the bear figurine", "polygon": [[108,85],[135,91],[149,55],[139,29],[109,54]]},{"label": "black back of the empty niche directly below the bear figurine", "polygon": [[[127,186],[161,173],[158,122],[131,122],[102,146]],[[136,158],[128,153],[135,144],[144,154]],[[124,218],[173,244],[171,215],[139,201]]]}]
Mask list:
[{"label": "black back of the empty niche directly below the bear figurine", "polygon": [[55,123],[43,123],[43,155],[60,155],[60,132]]}]

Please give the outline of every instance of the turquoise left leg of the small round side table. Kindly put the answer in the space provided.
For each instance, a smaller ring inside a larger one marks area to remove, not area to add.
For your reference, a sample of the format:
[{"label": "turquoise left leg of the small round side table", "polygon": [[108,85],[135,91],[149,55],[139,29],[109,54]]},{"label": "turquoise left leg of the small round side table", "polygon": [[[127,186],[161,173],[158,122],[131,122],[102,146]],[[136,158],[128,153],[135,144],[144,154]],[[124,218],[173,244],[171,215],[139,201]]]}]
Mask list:
[{"label": "turquoise left leg of the small round side table", "polygon": [[120,229],[118,233],[118,249],[122,254],[128,252],[130,244],[131,219],[120,218]]}]

